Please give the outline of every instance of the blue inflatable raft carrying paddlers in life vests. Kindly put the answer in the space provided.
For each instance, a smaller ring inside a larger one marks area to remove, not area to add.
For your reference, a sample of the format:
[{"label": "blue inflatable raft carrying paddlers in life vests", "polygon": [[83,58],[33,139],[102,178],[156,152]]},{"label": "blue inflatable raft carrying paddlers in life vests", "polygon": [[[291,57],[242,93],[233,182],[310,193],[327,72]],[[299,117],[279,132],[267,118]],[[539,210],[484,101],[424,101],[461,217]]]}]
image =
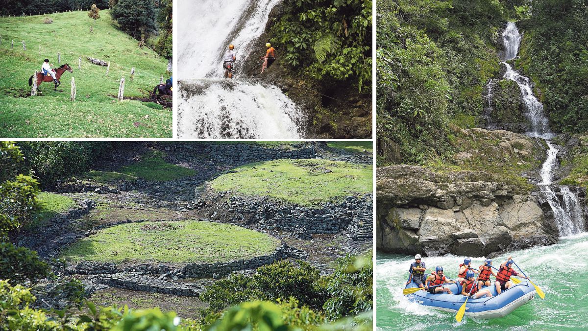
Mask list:
[{"label": "blue inflatable raft carrying paddlers in life vests", "polygon": [[[526,279],[520,279],[520,281],[520,283],[511,286],[510,289],[503,290],[500,295],[496,293],[494,282],[490,286],[484,286],[483,289],[489,289],[492,297],[470,298],[467,300],[465,315],[479,319],[493,319],[509,315],[513,310],[532,300],[536,293],[534,286]],[[406,285],[406,288],[409,287],[418,286],[411,280]],[[453,294],[431,294],[422,290],[409,294],[407,297],[409,300],[420,303],[423,306],[429,306],[445,312],[457,313],[457,310],[459,310],[466,300],[466,297],[461,295],[462,286],[459,286],[459,289],[456,284],[445,285],[444,287],[449,287]]]}]

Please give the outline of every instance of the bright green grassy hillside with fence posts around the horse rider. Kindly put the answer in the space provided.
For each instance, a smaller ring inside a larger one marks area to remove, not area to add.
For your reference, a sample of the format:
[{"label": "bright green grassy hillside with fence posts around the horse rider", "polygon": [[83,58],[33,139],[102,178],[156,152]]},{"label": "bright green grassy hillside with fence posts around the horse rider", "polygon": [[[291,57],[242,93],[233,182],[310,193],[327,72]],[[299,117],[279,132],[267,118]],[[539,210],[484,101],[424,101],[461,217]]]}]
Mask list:
[{"label": "bright green grassy hillside with fence posts around the horse rider", "polygon": [[[116,102],[119,79],[125,76],[125,97],[146,96],[166,77],[167,61],[119,31],[108,10],[89,31],[92,19],[86,11],[43,16],[0,18],[0,137],[4,138],[171,138],[172,112],[152,109],[142,102]],[[11,40],[14,39],[14,49]],[[26,43],[26,51],[21,41]],[[41,55],[39,55],[39,45]],[[59,90],[53,83],[42,83],[40,96],[31,92],[28,79],[40,70],[43,59],[59,66],[69,63],[74,73],[65,72]],[[78,58],[82,56],[82,68]],[[92,58],[110,61],[106,67],[88,62]],[[135,79],[131,81],[131,68]],[[71,78],[75,77],[77,97],[69,101]]]}]

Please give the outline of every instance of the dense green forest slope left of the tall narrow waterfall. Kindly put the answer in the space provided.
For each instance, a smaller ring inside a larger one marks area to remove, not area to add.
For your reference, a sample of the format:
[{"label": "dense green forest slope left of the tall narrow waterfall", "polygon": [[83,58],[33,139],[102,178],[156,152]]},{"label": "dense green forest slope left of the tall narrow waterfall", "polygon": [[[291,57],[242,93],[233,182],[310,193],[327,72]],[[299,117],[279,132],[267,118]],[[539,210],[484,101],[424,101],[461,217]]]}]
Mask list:
[{"label": "dense green forest slope left of the tall narrow waterfall", "polygon": [[499,29],[522,2],[377,2],[380,165],[453,155],[450,125],[476,124],[483,88],[499,71]]}]

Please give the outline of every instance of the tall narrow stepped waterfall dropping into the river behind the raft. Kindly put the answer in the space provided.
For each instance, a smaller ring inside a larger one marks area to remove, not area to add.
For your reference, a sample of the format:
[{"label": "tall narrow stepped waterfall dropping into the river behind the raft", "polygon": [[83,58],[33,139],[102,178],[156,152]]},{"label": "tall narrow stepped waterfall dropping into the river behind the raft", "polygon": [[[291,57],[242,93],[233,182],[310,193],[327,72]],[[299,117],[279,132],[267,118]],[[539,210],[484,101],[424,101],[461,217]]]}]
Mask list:
[{"label": "tall narrow stepped waterfall dropping into the river behind the raft", "polygon": [[554,133],[549,131],[549,122],[543,112],[543,104],[537,100],[533,94],[528,77],[520,75],[513,70],[512,66],[506,61],[514,59],[519,52],[519,44],[522,36],[516,28],[514,22],[507,24],[505,32],[502,34],[502,40],[505,45],[503,54],[503,64],[506,66],[505,79],[515,81],[519,85],[520,93],[523,97],[523,103],[527,110],[527,116],[530,119],[532,131],[527,132],[531,136],[545,139],[549,149],[547,150],[547,159],[541,169],[541,192],[547,199],[549,206],[553,210],[553,216],[556,220],[557,229],[560,236],[570,236],[582,233],[584,229],[584,219],[582,208],[576,195],[570,191],[567,186],[559,186],[559,193],[563,197],[560,202],[552,185],[552,171],[557,167],[557,147],[551,143]]}]

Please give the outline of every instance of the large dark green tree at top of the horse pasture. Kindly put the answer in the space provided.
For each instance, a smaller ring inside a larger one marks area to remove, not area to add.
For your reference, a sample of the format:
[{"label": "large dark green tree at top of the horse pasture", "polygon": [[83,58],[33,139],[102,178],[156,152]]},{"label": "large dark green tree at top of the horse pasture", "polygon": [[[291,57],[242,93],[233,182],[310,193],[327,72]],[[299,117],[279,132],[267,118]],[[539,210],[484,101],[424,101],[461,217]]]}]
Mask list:
[{"label": "large dark green tree at top of the horse pasture", "polygon": [[152,0],[120,0],[111,14],[123,31],[139,41],[139,47],[157,29],[157,11]]}]

